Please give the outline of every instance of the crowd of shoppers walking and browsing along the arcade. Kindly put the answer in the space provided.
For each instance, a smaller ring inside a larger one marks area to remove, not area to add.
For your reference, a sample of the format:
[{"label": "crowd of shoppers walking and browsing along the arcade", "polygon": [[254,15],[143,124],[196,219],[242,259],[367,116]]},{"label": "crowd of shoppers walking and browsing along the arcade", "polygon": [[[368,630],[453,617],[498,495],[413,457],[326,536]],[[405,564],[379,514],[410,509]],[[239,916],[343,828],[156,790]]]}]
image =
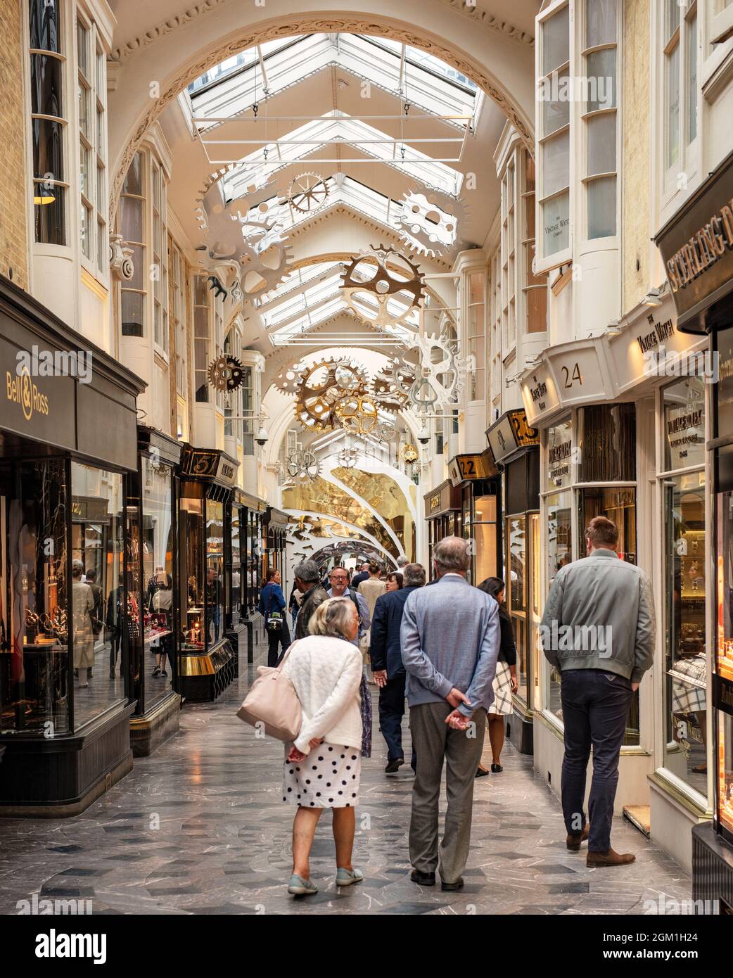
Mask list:
[{"label": "crowd of shoppers walking and browsing along the arcade", "polygon": [[[580,851],[587,840],[589,867],[623,866],[634,857],[612,849],[611,822],[631,696],[652,662],[653,604],[643,571],[618,558],[613,522],[596,517],[585,538],[588,556],[563,567],[552,583],[540,635],[545,656],[562,676],[561,790],[567,847]],[[425,587],[425,568],[405,557],[400,570],[388,573],[386,580],[374,561],[362,565],[351,582],[349,571],[335,566],[327,590],[318,564],[302,560],[295,567],[288,604],[296,612],[292,645],[280,575],[268,575],[260,609],[266,624],[273,615],[281,621],[276,630],[268,629],[268,662],[275,663],[281,646],[280,669],[302,707],[300,731],[285,744],[282,788],[282,800],[297,808],[288,885],[295,896],[318,890],[309,857],[323,808],[333,809],[337,885],[364,878],[352,865],[352,849],[362,759],[369,756],[371,742],[365,652],[378,688],[387,775],[405,764],[406,697],[410,710],[410,879],[433,886],[439,872],[443,890],[463,886],[474,783],[490,774],[480,763],[487,729],[491,773],[503,770],[505,718],[517,691],[517,650],[504,582],[490,577],[478,587],[468,583],[470,541],[447,537],[436,544],[432,557],[430,583],[436,586],[430,589]],[[568,628],[573,638],[558,644],[558,634],[566,636]],[[588,653],[582,641],[594,628],[610,630],[613,644]],[[586,817],[591,746],[593,779]],[[441,838],[444,768],[448,805]]]}]

